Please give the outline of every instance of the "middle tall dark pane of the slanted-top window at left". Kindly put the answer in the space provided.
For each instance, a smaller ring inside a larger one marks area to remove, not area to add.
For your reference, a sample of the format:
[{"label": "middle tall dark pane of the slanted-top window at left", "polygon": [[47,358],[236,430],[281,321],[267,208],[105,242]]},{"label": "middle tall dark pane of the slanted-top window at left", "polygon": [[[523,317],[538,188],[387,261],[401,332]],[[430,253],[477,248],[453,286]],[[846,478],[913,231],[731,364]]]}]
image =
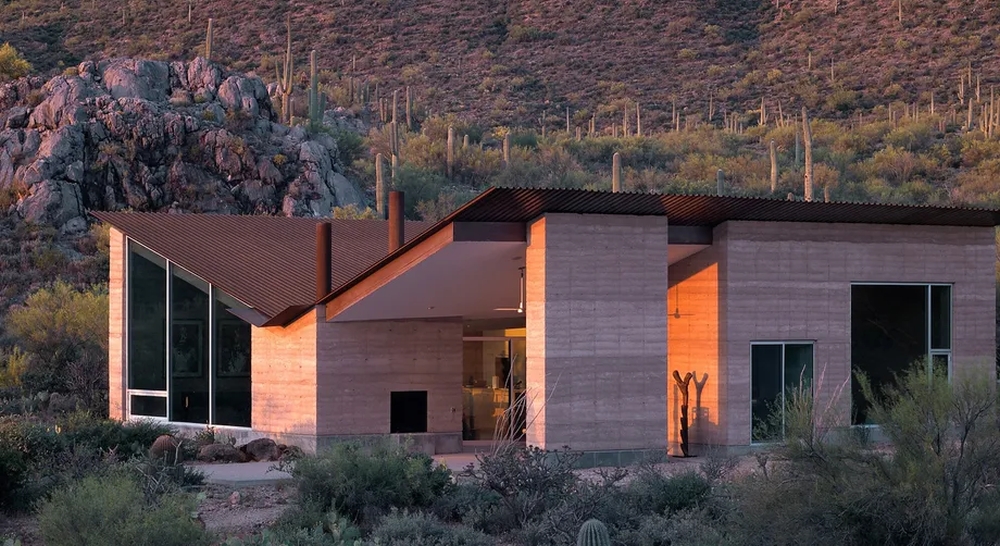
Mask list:
[{"label": "middle tall dark pane of the slanted-top window at left", "polygon": [[171,267],[170,420],[208,423],[208,284]]}]

